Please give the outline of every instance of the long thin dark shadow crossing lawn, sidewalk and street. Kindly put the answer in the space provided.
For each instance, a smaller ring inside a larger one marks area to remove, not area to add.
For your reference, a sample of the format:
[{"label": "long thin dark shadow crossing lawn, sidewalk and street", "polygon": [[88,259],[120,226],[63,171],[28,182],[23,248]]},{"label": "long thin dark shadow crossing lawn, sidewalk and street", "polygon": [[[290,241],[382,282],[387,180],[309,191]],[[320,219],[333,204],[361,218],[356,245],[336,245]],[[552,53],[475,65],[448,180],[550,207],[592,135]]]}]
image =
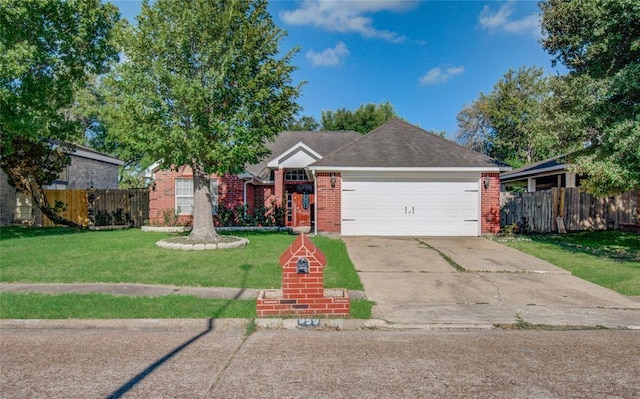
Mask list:
[{"label": "long thin dark shadow crossing lawn, sidewalk and street", "polygon": [[214,312],[214,314],[213,314],[213,316],[211,318],[207,319],[207,329],[206,330],[204,330],[200,334],[196,335],[195,337],[187,340],[183,344],[177,346],[174,350],[172,350],[171,352],[169,352],[166,355],[162,356],[160,359],[158,359],[155,362],[153,362],[153,364],[149,365],[149,367],[144,369],[142,372],[138,373],[136,376],[134,376],[129,381],[127,381],[124,385],[122,385],[121,387],[119,387],[118,389],[113,391],[111,394],[109,394],[107,396],[107,399],[118,399],[118,398],[121,398],[127,392],[132,390],[136,385],[138,385],[138,383],[140,383],[140,381],[144,380],[148,375],[153,373],[157,368],[159,368],[160,366],[162,366],[163,364],[165,364],[166,362],[171,360],[174,356],[176,356],[177,354],[182,352],[189,345],[193,344],[194,342],[196,342],[200,338],[204,337],[205,335],[207,335],[211,331],[213,331],[215,329],[215,319],[218,316],[220,316],[221,314],[223,314],[223,311],[231,305],[232,301],[239,299],[242,296],[242,294],[244,293],[244,291],[246,290],[247,274],[249,273],[249,271],[251,270],[251,268],[253,266],[245,264],[245,265],[242,265],[240,267],[241,267],[241,269],[243,271],[243,274],[242,274],[242,288],[240,289],[240,291],[238,291],[238,293],[232,299],[227,300],[224,303],[224,305],[222,305],[220,308],[216,309],[216,311]]}]

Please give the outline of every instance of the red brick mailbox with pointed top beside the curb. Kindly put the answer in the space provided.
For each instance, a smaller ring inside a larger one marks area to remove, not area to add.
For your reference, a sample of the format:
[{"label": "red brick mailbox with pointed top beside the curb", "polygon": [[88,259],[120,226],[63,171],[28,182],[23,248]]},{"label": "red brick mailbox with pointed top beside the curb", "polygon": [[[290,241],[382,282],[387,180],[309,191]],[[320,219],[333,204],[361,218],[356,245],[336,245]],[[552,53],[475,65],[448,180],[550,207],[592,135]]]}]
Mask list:
[{"label": "red brick mailbox with pointed top beside the curb", "polygon": [[349,293],[342,288],[325,289],[322,268],[325,255],[300,234],[280,256],[282,289],[263,290],[257,299],[258,317],[277,315],[348,316]]}]

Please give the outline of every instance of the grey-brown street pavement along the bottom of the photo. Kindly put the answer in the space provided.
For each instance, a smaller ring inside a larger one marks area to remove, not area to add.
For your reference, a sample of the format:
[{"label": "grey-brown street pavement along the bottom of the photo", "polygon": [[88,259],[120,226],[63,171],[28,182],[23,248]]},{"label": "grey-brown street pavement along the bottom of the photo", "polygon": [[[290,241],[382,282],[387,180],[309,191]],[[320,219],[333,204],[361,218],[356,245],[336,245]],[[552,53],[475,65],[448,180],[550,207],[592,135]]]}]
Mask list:
[{"label": "grey-brown street pavement along the bottom of the photo", "polygon": [[[638,398],[640,332],[3,321],[2,398]],[[211,324],[210,324],[211,323]]]}]

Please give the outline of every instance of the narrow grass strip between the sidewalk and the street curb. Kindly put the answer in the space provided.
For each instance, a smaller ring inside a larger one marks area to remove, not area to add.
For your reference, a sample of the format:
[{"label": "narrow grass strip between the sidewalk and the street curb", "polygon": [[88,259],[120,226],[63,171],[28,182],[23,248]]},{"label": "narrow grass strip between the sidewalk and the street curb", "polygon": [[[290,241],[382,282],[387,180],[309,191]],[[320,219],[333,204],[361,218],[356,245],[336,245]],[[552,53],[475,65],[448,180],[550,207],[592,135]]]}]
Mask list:
[{"label": "narrow grass strip between the sidewalk and the street curb", "polygon": [[[373,303],[351,302],[351,317],[370,319]],[[256,317],[255,300],[194,296],[0,293],[0,319],[193,319]]]}]

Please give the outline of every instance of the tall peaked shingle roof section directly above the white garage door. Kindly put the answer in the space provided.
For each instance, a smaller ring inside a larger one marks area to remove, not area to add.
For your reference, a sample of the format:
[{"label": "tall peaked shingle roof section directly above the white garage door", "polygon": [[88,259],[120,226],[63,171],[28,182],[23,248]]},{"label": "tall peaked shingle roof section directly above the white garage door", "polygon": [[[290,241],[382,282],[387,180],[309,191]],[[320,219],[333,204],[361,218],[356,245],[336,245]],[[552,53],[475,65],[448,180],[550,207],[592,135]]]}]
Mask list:
[{"label": "tall peaked shingle roof section directly above the white garage door", "polygon": [[393,119],[313,163],[312,167],[496,167],[493,159]]}]

